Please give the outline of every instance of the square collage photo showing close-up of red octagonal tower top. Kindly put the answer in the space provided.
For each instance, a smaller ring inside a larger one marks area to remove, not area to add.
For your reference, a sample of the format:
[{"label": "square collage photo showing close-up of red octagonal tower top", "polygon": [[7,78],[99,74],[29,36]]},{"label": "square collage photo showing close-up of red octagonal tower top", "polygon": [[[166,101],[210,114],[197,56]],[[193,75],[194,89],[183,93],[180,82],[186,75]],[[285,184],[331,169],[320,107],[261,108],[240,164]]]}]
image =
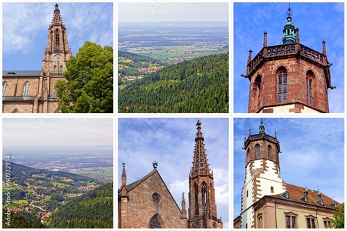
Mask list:
[{"label": "square collage photo showing close-up of red octagonal tower top", "polygon": [[345,4],[234,3],[234,112],[344,113]]}]

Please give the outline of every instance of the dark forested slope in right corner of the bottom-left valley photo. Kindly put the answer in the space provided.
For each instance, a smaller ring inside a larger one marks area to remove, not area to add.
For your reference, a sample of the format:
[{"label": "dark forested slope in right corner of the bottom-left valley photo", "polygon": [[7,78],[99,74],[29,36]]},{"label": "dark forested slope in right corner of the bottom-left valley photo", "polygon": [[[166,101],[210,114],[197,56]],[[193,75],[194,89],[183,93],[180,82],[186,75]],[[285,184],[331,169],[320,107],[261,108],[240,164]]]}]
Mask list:
[{"label": "dark forested slope in right corner of the bottom-left valley photo", "polygon": [[72,198],[52,217],[50,228],[113,228],[113,183]]}]

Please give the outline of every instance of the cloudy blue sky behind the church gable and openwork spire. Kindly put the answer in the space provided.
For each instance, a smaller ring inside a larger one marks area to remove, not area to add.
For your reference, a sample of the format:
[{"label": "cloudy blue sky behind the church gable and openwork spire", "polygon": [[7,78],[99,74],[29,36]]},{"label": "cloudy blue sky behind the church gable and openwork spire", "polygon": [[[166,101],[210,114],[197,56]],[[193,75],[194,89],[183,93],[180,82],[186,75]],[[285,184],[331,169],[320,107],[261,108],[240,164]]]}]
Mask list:
[{"label": "cloudy blue sky behind the church gable and openwork spire", "polygon": [[[192,169],[198,119],[118,119],[118,184],[122,162],[126,163],[127,184],[153,170],[158,172],[180,207],[182,192],[188,201],[188,176]],[[229,227],[229,129],[228,119],[200,118],[208,163],[214,173],[217,216]],[[188,205],[187,205],[188,207]]]}]

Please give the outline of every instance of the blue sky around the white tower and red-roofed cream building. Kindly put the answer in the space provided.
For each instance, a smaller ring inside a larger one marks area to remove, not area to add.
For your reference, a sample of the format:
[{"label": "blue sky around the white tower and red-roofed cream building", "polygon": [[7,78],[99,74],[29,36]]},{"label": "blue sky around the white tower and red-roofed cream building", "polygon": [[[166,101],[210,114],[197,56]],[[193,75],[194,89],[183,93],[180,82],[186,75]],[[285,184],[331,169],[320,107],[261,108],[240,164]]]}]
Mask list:
[{"label": "blue sky around the white tower and red-roofed cream building", "polygon": [[[265,132],[280,142],[281,178],[291,185],[307,187],[342,203],[345,201],[345,123],[341,118],[265,118]],[[235,118],[233,137],[234,214],[240,214],[244,184],[244,138],[259,132],[259,118]]]}]

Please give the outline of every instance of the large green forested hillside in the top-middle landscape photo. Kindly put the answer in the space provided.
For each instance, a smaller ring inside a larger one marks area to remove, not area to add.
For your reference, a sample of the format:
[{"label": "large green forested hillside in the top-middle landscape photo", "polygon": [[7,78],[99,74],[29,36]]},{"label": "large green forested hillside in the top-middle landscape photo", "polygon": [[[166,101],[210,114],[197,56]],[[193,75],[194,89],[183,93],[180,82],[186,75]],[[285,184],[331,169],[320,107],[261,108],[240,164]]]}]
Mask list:
[{"label": "large green forested hillside in the top-middle landscape photo", "polygon": [[226,113],[228,53],[179,62],[119,89],[119,112]]}]

